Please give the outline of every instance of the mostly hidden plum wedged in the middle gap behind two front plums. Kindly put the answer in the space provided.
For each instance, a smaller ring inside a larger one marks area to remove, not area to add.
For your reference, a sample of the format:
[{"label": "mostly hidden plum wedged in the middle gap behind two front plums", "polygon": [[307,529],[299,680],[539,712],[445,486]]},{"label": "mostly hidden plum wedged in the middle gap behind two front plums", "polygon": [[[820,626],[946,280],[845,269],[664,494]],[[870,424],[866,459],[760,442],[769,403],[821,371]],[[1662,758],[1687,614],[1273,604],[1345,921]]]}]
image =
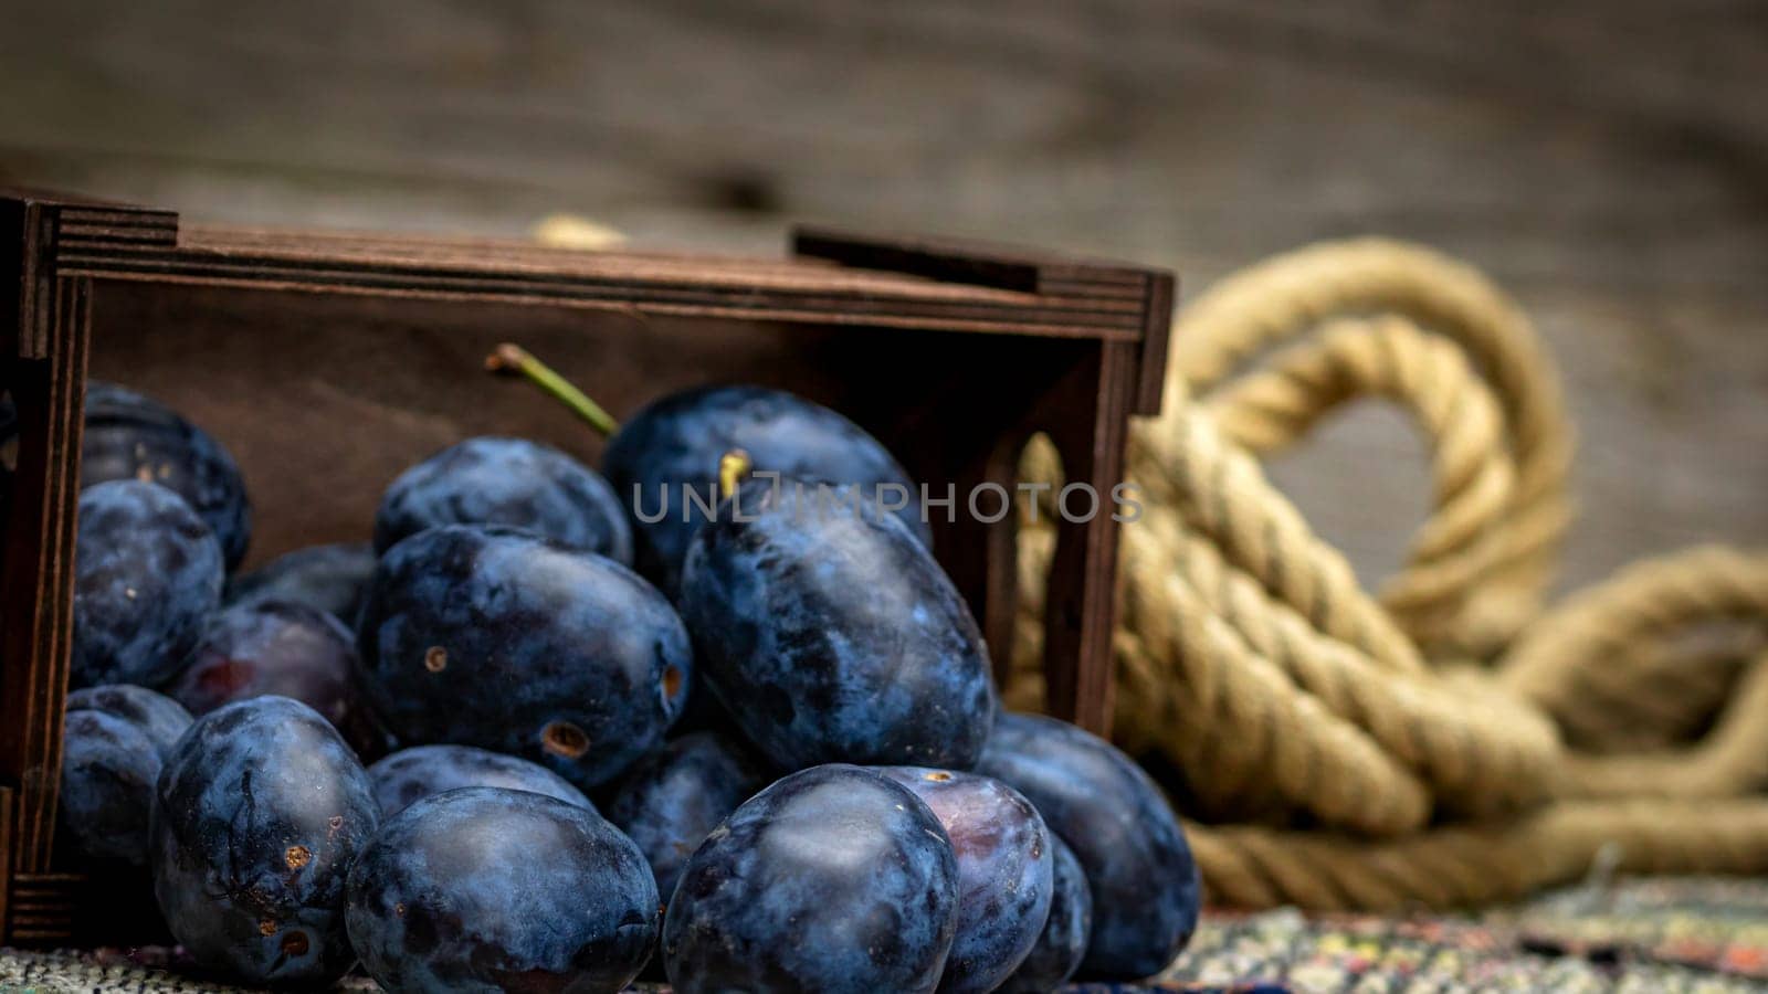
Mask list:
[{"label": "mostly hidden plum wedged in the middle gap behind two front plums", "polygon": [[647,755],[608,801],[608,821],[638,844],[663,900],[688,856],[737,805],[767,785],[760,761],[718,732],[682,736]]}]

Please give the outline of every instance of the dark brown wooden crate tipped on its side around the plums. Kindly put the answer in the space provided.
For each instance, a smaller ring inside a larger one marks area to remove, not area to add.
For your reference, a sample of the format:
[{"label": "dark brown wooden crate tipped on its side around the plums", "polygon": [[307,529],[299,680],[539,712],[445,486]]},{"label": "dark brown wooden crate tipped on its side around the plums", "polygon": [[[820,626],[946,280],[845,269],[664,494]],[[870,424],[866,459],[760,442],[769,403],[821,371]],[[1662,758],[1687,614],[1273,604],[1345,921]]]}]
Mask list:
[{"label": "dark brown wooden crate tipped on its side around the plums", "polygon": [[[255,508],[248,566],[362,539],[385,485],[476,433],[601,440],[484,375],[516,340],[615,416],[702,382],[760,382],[842,410],[935,495],[935,554],[997,665],[1015,610],[1015,485],[1047,432],[1070,481],[1109,493],[1132,414],[1160,405],[1167,272],[939,241],[797,230],[783,260],[613,255],[493,241],[180,226],[164,210],[0,195],[0,386],[18,472],[0,561],[0,939],[65,943],[87,918],[57,861],[74,515],[87,375],[216,433]],[[14,320],[16,318],[16,320]],[[992,508],[985,502],[985,511]],[[1050,578],[1052,709],[1105,730],[1116,522],[1064,522]]]}]

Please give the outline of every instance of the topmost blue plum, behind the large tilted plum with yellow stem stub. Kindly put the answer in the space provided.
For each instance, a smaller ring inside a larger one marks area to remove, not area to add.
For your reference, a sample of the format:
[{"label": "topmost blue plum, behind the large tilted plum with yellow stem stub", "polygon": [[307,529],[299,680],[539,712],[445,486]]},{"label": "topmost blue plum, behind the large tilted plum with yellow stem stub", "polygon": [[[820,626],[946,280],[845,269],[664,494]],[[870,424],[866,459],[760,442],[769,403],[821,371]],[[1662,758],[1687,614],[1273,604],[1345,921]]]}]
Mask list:
[{"label": "topmost blue plum, behind the large tilted plum with yellow stem stub", "polygon": [[[932,545],[919,488],[857,424],[785,391],[697,387],[644,407],[608,440],[601,458],[622,504],[635,511],[638,571],[670,596],[688,543],[705,518],[682,488],[691,486],[714,502],[718,458],[732,449],[746,451],[755,470],[794,479],[850,485],[866,495],[879,493],[880,485],[900,486],[902,493],[880,497],[907,499],[896,515],[921,545]],[[658,520],[645,520],[659,513]]]}]

